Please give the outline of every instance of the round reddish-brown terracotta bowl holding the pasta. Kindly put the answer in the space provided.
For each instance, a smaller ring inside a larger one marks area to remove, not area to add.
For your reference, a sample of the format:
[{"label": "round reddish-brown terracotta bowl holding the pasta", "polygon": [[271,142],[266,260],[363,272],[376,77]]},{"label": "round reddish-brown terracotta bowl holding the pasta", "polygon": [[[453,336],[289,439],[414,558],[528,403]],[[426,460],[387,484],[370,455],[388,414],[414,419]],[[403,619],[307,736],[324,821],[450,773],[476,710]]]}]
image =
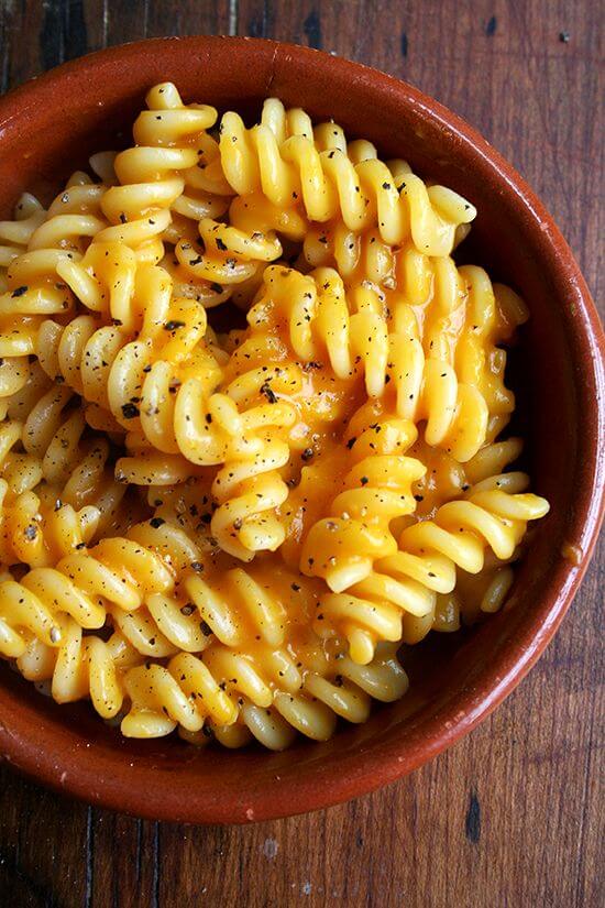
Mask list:
[{"label": "round reddish-brown terracotta bowl holding the pasta", "polygon": [[[479,209],[470,258],[528,302],[518,397],[534,490],[551,503],[509,606],[472,633],[432,635],[406,656],[411,693],[283,754],[198,752],[175,736],[127,741],[87,704],[58,707],[0,669],[0,753],[41,783],[120,811],[245,822],[328,807],[430,759],[473,729],[544,649],[570,605],[603,512],[603,332],[552,219],[518,174],[463,120],[405,83],[317,51],[248,39],[141,42],[68,63],[0,100],[0,217],[23,189],[48,198],[92,151],[125,143],[154,83],[187,100],[257,112],[267,95],[333,116],[405,156]],[[121,132],[121,130],[123,130]],[[472,253],[472,254],[471,254]],[[562,551],[582,553],[574,564]]]}]

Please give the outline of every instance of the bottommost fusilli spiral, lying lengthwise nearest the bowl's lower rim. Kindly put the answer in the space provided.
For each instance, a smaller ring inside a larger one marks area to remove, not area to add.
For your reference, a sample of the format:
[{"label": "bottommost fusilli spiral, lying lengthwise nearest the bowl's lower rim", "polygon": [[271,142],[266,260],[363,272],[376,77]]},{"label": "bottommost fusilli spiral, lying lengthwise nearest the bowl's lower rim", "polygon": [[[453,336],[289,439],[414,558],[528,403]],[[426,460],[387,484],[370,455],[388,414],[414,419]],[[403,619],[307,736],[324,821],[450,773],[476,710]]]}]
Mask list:
[{"label": "bottommost fusilli spiral, lying lengthwise nearest the bowl's lower rim", "polygon": [[[345,655],[332,661],[331,670],[322,659],[318,661],[319,670],[309,669],[304,683],[289,690],[283,680],[267,686],[253,665],[220,647],[207,650],[201,659],[180,654],[167,667],[133,668],[125,677],[132,707],[122,731],[133,737],[150,737],[178,726],[186,740],[197,744],[211,736],[228,747],[241,747],[256,739],[280,751],[296,732],[326,741],[339,716],[363,722],[372,698],[391,702],[407,690],[407,676],[388,649],[367,666],[358,666]],[[233,675],[237,677],[228,681]],[[239,691],[235,700],[227,693],[228,683]]]}]

